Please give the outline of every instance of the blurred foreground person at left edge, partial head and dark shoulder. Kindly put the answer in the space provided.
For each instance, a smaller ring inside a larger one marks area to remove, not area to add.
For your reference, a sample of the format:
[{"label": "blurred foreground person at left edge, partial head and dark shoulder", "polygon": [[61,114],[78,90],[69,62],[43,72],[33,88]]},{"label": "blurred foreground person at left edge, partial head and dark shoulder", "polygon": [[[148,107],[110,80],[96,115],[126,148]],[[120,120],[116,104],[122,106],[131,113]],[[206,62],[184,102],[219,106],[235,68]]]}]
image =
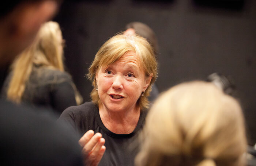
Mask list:
[{"label": "blurred foreground person at left edge, partial head and dark shoulder", "polygon": [[[58,6],[54,0],[1,4],[0,68],[31,44],[41,24],[52,18]],[[55,119],[45,110],[17,106],[0,99],[0,165],[81,165],[77,138]]]}]

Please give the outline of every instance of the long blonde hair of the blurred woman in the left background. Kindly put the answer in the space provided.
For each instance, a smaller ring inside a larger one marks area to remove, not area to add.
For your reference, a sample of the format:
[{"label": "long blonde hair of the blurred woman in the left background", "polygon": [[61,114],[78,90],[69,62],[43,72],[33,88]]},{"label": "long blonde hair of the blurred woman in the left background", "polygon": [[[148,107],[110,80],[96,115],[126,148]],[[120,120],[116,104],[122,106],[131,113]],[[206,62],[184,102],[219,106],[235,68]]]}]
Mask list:
[{"label": "long blonde hair of the blurred woman in the left background", "polygon": [[24,50],[12,64],[13,76],[7,90],[7,99],[20,103],[25,91],[26,82],[34,65],[42,65],[64,71],[62,34],[57,22],[42,24],[30,47]]}]

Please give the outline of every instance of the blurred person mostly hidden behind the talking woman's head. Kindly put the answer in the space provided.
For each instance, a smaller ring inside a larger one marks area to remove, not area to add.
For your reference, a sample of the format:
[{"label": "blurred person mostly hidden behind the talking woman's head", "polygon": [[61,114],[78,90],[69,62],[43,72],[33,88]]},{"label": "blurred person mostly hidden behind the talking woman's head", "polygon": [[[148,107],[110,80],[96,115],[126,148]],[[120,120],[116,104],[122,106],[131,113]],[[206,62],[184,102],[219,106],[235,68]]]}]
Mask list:
[{"label": "blurred person mostly hidden behind the talking woman's head", "polygon": [[[155,32],[146,24],[142,22],[131,22],[125,26],[126,30],[124,35],[134,35],[138,34],[143,38],[147,39],[147,41],[151,44],[154,49],[155,57],[157,58],[158,54],[158,40]],[[150,92],[150,96],[148,97],[148,101],[153,102],[159,94],[159,90],[157,88],[156,82],[152,85],[152,91]]]}]

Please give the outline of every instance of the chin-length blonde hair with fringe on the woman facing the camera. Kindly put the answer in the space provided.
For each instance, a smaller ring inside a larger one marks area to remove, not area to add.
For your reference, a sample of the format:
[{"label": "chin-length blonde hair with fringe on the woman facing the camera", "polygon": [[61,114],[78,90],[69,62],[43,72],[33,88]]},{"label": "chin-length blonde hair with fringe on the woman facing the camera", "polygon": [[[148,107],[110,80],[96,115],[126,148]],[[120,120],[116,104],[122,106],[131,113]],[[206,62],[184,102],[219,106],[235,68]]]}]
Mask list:
[{"label": "chin-length blonde hair with fringe on the woman facing the camera", "polygon": [[95,80],[99,68],[114,63],[128,51],[133,51],[136,53],[136,56],[139,57],[140,65],[145,72],[146,77],[149,77],[151,73],[153,74],[150,85],[144,92],[144,96],[141,96],[137,101],[140,109],[148,108],[149,102],[147,97],[150,95],[151,85],[157,78],[157,62],[155,60],[154,51],[151,45],[143,37],[139,35],[125,36],[123,33],[113,36],[101,46],[89,68],[87,76],[94,86],[91,92],[93,103],[99,105],[101,102],[96,90],[97,83]]}]

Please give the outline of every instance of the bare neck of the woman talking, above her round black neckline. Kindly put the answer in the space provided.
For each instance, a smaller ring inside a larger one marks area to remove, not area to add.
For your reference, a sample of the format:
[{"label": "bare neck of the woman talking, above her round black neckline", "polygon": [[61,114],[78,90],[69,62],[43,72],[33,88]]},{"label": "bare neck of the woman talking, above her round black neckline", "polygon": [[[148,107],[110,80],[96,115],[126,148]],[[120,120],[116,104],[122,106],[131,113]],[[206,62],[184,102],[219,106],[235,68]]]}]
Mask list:
[{"label": "bare neck of the woman talking, above her round black neckline", "polygon": [[100,104],[99,115],[108,130],[116,134],[130,134],[138,124],[140,108],[135,106],[122,112],[113,112],[109,111],[103,104]]}]

